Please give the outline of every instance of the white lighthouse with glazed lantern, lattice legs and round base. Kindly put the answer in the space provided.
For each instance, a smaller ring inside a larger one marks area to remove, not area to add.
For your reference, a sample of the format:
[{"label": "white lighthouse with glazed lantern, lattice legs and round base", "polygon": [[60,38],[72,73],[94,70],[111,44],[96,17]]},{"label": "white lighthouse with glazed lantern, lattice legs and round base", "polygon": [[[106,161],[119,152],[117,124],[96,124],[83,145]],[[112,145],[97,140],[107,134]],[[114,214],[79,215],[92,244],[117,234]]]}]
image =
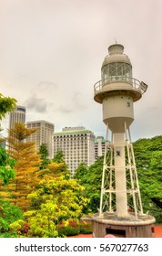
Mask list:
[{"label": "white lighthouse with glazed lantern, lattice legs and round base", "polygon": [[[94,90],[94,99],[102,104],[106,124],[100,208],[93,217],[94,234],[102,237],[112,231],[124,237],[151,237],[155,219],[143,213],[129,130],[134,121],[134,102],[147,91],[147,84],[133,78],[132,65],[122,45],[108,48],[101,80],[96,82]],[[109,224],[112,229],[106,228]]]}]

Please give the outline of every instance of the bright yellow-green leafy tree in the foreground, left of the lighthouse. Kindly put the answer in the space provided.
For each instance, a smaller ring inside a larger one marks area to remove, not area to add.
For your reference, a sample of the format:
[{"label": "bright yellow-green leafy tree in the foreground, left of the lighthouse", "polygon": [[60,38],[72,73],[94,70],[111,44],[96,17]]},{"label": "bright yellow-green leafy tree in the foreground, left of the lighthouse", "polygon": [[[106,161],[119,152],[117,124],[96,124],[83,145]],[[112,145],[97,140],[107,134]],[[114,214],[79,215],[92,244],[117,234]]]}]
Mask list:
[{"label": "bright yellow-green leafy tree in the foreground, left of the lighthouse", "polygon": [[[43,179],[39,188],[28,197],[37,205],[36,209],[25,212],[25,223],[29,230],[26,237],[49,238],[58,237],[59,227],[68,224],[70,220],[78,220],[86,205],[82,196],[84,187],[76,180],[66,180],[64,176]],[[23,227],[23,222],[13,223],[12,229]]]}]

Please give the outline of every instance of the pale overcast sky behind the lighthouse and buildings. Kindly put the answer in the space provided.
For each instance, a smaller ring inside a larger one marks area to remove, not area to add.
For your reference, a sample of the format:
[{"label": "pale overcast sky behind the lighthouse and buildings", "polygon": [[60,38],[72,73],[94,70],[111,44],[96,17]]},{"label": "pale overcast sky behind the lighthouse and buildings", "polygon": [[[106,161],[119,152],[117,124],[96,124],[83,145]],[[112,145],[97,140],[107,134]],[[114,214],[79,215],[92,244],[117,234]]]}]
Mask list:
[{"label": "pale overcast sky behind the lighthouse and buildings", "polygon": [[0,38],[0,92],[26,107],[26,121],[105,136],[94,84],[117,42],[134,78],[148,84],[135,102],[132,139],[162,134],[161,0],[0,0]]}]

